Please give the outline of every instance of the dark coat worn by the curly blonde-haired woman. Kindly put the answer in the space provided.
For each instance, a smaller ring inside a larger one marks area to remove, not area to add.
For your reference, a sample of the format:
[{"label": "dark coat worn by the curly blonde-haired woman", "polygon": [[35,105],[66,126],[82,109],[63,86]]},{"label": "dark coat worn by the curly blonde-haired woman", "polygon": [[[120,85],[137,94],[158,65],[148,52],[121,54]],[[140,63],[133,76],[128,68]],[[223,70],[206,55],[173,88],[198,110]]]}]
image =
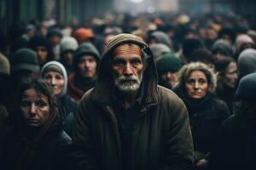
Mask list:
[{"label": "dark coat worn by the curly blonde-haired woman", "polygon": [[189,112],[189,121],[195,147],[195,161],[208,158],[208,153],[218,147],[218,134],[221,123],[230,116],[224,101],[210,94],[200,100],[193,100],[185,94],[177,93],[183,99]]}]

